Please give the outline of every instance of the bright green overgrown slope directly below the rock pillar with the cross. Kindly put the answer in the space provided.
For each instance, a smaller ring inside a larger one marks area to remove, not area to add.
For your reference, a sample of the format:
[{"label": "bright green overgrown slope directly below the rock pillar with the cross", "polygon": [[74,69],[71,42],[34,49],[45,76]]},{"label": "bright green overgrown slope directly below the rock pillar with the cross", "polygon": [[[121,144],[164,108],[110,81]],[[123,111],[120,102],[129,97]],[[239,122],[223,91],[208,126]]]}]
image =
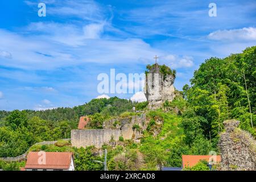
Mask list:
[{"label": "bright green overgrown slope directly below the rock pillar with the cross", "polygon": [[181,154],[187,152],[187,146],[183,143],[183,129],[179,127],[181,116],[171,112],[151,110],[147,113],[147,118],[151,122],[162,119],[163,125],[156,137],[144,131],[139,150],[144,155],[145,169],[155,170],[157,164],[180,167]]}]

